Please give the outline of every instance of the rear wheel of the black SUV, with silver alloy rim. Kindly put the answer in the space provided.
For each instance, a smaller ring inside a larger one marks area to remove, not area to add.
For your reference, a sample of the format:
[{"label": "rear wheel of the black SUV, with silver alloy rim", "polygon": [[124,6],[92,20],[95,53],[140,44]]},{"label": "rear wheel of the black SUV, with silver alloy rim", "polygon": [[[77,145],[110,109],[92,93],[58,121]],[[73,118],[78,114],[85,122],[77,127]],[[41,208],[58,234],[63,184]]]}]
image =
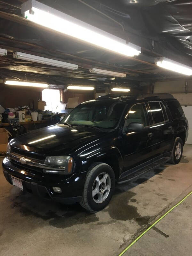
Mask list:
[{"label": "rear wheel of the black SUV, with silver alloy rim", "polygon": [[181,140],[180,137],[177,137],[173,145],[171,159],[169,163],[178,164],[181,160],[182,154],[183,154],[183,141]]}]

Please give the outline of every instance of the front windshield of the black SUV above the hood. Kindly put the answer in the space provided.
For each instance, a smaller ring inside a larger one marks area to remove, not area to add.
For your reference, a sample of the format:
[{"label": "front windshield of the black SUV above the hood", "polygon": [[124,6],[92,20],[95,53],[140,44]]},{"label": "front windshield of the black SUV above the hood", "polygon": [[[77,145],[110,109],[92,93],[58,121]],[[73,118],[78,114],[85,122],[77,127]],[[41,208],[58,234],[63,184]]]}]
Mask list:
[{"label": "front windshield of the black SUV above the hood", "polygon": [[60,124],[115,128],[123,112],[124,103],[86,102],[74,108]]}]

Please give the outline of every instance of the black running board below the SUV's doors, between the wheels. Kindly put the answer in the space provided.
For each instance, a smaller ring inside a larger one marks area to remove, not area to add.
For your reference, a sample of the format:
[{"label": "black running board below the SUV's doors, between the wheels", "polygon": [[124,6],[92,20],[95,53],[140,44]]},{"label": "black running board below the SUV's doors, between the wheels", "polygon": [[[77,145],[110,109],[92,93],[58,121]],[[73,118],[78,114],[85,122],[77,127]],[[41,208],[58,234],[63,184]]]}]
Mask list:
[{"label": "black running board below the SUV's doors, between the wheels", "polygon": [[117,184],[122,184],[122,183],[125,183],[127,181],[130,181],[130,180],[133,180],[134,178],[142,175],[143,173],[145,172],[148,172],[148,171],[151,171],[153,170],[154,168],[158,167],[159,165],[161,164],[165,164],[166,162],[168,162],[170,159],[169,156],[167,157],[163,157],[161,159],[159,159],[158,161],[156,162],[153,162],[151,164],[148,164],[147,166],[143,167],[143,168],[140,168],[139,170],[135,171],[135,172],[132,172],[130,173],[129,175],[127,175],[126,177],[120,179],[117,181]]}]

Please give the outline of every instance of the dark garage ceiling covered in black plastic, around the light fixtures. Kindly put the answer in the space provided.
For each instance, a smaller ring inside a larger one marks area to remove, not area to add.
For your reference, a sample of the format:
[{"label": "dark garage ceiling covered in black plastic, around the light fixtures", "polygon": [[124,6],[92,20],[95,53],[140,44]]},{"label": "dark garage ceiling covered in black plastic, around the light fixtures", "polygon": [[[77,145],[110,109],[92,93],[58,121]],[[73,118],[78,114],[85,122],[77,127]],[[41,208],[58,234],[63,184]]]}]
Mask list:
[{"label": "dark garage ceiling covered in black plastic, around the light fixtures", "polygon": [[[189,0],[40,0],[79,20],[141,46],[141,54],[125,57],[98,49],[55,31],[40,27],[21,16],[25,0],[0,0],[0,76],[46,81],[52,87],[67,84],[135,86],[157,80],[187,79],[155,65],[167,57],[192,67],[192,2]],[[79,65],[77,71],[16,60],[20,51]],[[89,68],[126,73],[116,78],[89,73]]]}]

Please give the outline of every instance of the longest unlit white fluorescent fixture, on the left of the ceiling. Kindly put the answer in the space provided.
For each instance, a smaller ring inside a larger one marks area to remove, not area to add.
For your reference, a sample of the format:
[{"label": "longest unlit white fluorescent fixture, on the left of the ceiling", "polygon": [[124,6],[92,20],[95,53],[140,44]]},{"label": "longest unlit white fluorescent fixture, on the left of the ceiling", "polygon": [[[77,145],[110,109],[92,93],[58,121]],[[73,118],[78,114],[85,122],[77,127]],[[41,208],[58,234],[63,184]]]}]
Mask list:
[{"label": "longest unlit white fluorescent fixture, on the left of the ceiling", "polygon": [[13,52],[13,58],[20,59],[20,60],[33,61],[33,62],[42,63],[42,64],[60,67],[60,68],[68,68],[72,70],[78,69],[78,65],[75,65],[72,63],[67,63],[60,60],[52,60],[44,57],[39,57],[36,55],[23,53],[23,52]]}]

